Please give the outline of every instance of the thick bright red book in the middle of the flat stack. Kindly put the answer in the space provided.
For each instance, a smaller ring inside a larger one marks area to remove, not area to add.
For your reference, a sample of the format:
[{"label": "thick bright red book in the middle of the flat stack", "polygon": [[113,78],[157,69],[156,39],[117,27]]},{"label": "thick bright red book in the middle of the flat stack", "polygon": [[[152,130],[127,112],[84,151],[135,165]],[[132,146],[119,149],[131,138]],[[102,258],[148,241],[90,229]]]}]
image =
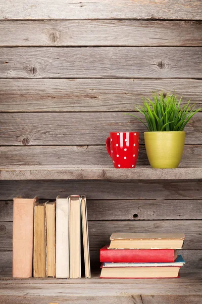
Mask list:
[{"label": "thick bright red book in the middle of the flat stack", "polygon": [[100,249],[100,262],[114,263],[165,263],[174,262],[177,254],[174,249]]}]

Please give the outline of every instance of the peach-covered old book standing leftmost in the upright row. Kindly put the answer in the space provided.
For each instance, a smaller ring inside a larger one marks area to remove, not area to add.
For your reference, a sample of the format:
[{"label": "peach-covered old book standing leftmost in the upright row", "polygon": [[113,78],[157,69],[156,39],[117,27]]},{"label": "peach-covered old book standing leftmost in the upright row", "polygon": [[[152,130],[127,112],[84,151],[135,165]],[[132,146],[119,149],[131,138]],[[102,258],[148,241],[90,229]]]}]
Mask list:
[{"label": "peach-covered old book standing leftmost in the upright row", "polygon": [[32,277],[34,199],[13,200],[13,277]]}]

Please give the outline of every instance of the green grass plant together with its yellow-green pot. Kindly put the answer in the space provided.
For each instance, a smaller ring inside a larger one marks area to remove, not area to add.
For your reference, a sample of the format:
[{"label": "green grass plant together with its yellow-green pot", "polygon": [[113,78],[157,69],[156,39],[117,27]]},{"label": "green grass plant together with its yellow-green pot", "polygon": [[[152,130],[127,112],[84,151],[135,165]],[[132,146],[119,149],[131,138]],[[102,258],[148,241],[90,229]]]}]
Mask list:
[{"label": "green grass plant together with its yellow-green pot", "polygon": [[194,109],[190,100],[181,104],[182,97],[177,100],[177,95],[157,93],[153,94],[152,100],[143,98],[143,105],[136,107],[145,122],[147,128],[144,132],[146,154],[152,168],[178,168],[182,158],[185,131],[184,128],[189,120],[200,109]]}]

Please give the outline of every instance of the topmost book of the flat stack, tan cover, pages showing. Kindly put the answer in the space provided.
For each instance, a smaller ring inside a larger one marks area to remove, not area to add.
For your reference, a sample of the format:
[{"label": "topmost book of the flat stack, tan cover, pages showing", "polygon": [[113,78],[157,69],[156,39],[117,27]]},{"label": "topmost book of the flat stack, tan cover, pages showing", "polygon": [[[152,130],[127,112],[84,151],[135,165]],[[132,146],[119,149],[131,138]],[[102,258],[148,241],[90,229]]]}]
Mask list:
[{"label": "topmost book of the flat stack, tan cover, pages showing", "polygon": [[113,233],[110,241],[110,249],[181,249],[184,234]]}]

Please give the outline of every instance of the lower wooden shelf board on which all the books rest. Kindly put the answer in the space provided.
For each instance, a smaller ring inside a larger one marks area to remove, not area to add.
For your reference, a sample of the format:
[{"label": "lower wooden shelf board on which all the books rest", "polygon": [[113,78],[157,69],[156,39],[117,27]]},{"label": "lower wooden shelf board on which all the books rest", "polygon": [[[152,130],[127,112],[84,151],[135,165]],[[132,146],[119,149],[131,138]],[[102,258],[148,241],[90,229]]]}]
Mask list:
[{"label": "lower wooden shelf board on which all the books rest", "polygon": [[202,302],[202,269],[179,279],[13,279],[0,281],[1,304],[188,304]]}]

